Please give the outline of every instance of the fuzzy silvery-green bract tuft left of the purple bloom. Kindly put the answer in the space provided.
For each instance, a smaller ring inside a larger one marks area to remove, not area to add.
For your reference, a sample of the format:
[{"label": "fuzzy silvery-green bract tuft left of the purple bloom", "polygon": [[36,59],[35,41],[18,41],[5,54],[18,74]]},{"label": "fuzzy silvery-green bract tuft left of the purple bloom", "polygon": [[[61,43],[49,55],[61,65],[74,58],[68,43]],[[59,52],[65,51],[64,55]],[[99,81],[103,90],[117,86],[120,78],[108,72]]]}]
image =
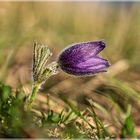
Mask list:
[{"label": "fuzzy silvery-green bract tuft left of the purple bloom", "polygon": [[48,64],[48,59],[52,55],[50,49],[43,45],[34,43],[33,52],[33,80],[34,83],[42,84],[50,76],[57,73],[58,64],[57,62],[52,62]]}]

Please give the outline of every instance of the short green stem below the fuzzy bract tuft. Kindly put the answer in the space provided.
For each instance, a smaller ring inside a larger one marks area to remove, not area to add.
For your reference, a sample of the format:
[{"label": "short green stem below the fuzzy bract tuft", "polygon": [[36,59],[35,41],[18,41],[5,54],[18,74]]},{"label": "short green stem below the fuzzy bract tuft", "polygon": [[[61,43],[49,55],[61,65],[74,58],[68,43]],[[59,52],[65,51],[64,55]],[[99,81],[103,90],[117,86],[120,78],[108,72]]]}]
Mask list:
[{"label": "short green stem below the fuzzy bract tuft", "polygon": [[36,94],[39,90],[39,84],[34,84],[32,93],[29,95],[28,102],[27,102],[27,110],[31,110],[32,103],[35,100]]}]

